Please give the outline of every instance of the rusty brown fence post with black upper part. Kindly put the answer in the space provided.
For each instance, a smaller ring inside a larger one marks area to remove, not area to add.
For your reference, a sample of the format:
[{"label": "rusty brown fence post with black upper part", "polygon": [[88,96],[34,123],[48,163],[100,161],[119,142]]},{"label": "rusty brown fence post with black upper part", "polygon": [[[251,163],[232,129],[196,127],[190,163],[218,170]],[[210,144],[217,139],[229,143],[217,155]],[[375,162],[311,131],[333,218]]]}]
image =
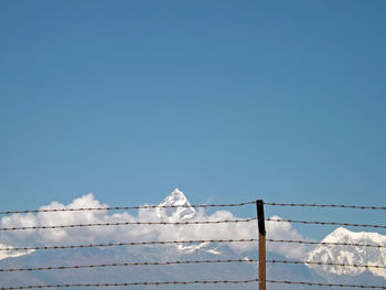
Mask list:
[{"label": "rusty brown fence post with black upper part", "polygon": [[264,201],[256,201],[257,224],[259,230],[259,290],[266,290],[266,225]]}]

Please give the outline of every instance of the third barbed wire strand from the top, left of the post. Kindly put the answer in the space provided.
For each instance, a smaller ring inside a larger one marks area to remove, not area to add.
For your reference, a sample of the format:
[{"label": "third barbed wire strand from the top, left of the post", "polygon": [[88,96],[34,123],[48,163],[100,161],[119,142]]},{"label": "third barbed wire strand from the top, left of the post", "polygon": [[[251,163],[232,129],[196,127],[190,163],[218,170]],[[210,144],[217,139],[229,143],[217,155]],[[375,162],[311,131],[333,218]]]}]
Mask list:
[{"label": "third barbed wire strand from the top, left of the post", "polygon": [[168,245],[168,244],[194,244],[194,243],[253,243],[257,238],[242,239],[191,239],[191,240],[152,240],[152,241],[127,241],[108,244],[86,244],[69,246],[41,246],[41,247],[6,247],[0,250],[50,250],[50,249],[75,249],[75,248],[97,248],[97,247],[119,247],[119,246],[147,246],[147,245]]}]

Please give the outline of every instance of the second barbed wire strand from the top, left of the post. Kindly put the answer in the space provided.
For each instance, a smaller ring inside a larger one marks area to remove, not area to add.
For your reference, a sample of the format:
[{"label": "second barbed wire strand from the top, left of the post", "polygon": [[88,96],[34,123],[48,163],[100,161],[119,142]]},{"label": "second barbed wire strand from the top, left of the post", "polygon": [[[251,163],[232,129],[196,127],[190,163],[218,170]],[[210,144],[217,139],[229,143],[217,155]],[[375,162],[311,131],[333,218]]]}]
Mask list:
[{"label": "second barbed wire strand from the top, left of the post", "polygon": [[53,226],[22,226],[22,227],[1,227],[0,230],[20,230],[20,229],[54,229],[73,227],[95,227],[95,226],[126,226],[126,225],[210,225],[228,223],[249,223],[257,218],[245,219],[223,219],[223,221],[186,221],[186,222],[117,222],[117,223],[89,223],[73,225],[53,225]]}]

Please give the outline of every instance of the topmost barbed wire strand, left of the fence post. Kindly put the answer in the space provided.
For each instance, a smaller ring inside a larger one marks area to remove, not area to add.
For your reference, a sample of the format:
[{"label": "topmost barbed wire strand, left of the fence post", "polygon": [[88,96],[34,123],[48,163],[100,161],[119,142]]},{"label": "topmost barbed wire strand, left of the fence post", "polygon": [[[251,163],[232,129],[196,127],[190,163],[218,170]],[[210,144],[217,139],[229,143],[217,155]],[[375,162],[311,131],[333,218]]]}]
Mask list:
[{"label": "topmost barbed wire strand, left of the fence post", "polygon": [[191,205],[139,205],[139,206],[105,206],[105,207],[78,207],[78,208],[45,208],[45,210],[23,210],[23,211],[6,211],[0,212],[0,215],[8,214],[28,214],[28,213],[57,213],[57,212],[87,212],[87,211],[130,211],[130,210],[153,210],[153,208],[179,208],[179,207],[237,207],[256,202],[245,203],[228,203],[228,204],[191,204]]}]

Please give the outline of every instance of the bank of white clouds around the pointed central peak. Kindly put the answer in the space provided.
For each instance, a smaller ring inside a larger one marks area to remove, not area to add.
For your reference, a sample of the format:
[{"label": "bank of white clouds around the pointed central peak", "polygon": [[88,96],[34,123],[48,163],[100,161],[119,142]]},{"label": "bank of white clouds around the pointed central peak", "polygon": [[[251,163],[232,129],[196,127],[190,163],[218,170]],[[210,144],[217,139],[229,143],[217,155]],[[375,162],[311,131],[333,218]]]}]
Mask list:
[{"label": "bank of white clouds around the pointed central peak", "polygon": [[[52,202],[40,210],[51,208],[79,208],[79,207],[107,207],[95,200],[93,194],[84,195],[74,200],[68,205]],[[174,221],[173,216],[161,216],[165,222]],[[275,216],[275,218],[279,218]],[[206,215],[199,211],[196,221],[239,219],[228,211],[217,211]],[[1,218],[1,227],[22,226],[55,226],[88,223],[121,223],[121,222],[158,222],[160,211],[140,210],[137,215],[128,212],[110,213],[108,211],[82,211],[82,212],[40,212],[37,214],[13,214]],[[289,223],[267,222],[267,237],[276,239],[303,239],[302,236],[291,228]],[[227,223],[211,225],[128,225],[128,226],[96,226],[55,229],[28,229],[2,232],[0,243],[14,247],[53,246],[53,245],[78,245],[88,243],[122,243],[139,240],[183,240],[183,239],[248,239],[257,237],[257,223]],[[230,244],[237,251],[251,250],[256,243]],[[1,246],[3,247],[3,246]],[[285,255],[290,258],[299,258],[304,255],[304,247],[291,244],[268,244],[267,249]],[[26,253],[2,251],[0,259],[23,255]]]}]

